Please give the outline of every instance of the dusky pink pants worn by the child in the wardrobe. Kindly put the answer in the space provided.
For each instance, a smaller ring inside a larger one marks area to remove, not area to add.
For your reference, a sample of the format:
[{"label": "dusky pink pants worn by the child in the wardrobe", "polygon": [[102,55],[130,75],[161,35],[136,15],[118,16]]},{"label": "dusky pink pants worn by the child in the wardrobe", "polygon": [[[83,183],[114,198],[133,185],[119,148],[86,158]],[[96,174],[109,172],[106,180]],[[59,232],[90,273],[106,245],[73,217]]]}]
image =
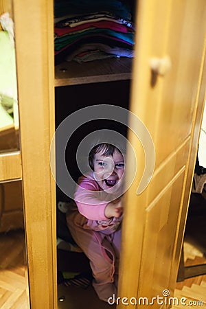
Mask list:
[{"label": "dusky pink pants worn by the child in the wardrobe", "polygon": [[87,219],[77,209],[69,210],[67,225],[71,236],[89,258],[93,272],[93,288],[98,297],[108,301],[117,296],[121,229],[110,235],[93,231],[85,225]]}]

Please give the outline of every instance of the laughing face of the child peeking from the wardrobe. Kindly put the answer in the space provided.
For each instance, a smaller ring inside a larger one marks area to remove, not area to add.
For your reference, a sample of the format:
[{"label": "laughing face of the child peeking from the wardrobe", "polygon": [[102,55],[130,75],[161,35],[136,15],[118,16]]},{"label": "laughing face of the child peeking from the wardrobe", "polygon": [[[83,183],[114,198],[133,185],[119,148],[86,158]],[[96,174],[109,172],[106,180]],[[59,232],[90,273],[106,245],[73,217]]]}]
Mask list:
[{"label": "laughing face of the child peeking from the wardrobe", "polygon": [[101,152],[94,156],[94,172],[95,179],[103,190],[108,190],[108,193],[116,192],[122,182],[124,174],[124,157],[115,150],[113,156],[105,157]]}]

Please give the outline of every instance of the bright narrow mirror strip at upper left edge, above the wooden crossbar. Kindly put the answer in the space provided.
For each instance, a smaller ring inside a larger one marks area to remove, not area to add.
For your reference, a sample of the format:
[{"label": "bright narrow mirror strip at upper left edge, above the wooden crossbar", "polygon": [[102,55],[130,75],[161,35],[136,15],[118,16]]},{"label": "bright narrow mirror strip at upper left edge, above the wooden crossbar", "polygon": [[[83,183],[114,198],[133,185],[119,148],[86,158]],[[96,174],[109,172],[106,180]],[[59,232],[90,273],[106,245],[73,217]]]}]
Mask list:
[{"label": "bright narrow mirror strip at upper left edge, above the wooden crossbar", "polygon": [[0,22],[0,153],[3,153],[19,150],[19,113],[13,22],[8,12],[1,14]]}]

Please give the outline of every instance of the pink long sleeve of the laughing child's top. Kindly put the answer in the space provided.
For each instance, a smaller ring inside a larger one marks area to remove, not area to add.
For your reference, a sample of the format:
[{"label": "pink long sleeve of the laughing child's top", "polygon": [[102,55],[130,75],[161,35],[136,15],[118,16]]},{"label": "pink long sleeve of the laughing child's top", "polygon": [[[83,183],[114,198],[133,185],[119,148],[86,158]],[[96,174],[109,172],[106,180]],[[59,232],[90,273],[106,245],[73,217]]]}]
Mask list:
[{"label": "pink long sleeve of the laughing child's top", "polygon": [[89,220],[108,220],[104,216],[104,209],[109,201],[106,201],[106,194],[93,179],[93,175],[82,176],[74,194],[78,211]]}]

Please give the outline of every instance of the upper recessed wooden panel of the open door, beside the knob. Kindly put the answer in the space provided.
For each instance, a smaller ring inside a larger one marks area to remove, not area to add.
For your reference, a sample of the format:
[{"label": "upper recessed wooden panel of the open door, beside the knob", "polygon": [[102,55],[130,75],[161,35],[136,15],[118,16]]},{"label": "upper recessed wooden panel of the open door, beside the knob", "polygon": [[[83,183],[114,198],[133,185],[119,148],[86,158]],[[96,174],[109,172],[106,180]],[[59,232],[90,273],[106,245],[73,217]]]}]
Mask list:
[{"label": "upper recessed wooden panel of the open door, beside the knob", "polygon": [[172,62],[172,69],[163,78],[160,125],[155,139],[157,148],[163,144],[165,148],[157,156],[157,165],[191,134],[198,90],[198,82],[194,80],[198,80],[205,36],[204,3],[204,0],[198,5],[196,1],[172,1],[168,43],[162,54],[156,55],[169,55]]}]

